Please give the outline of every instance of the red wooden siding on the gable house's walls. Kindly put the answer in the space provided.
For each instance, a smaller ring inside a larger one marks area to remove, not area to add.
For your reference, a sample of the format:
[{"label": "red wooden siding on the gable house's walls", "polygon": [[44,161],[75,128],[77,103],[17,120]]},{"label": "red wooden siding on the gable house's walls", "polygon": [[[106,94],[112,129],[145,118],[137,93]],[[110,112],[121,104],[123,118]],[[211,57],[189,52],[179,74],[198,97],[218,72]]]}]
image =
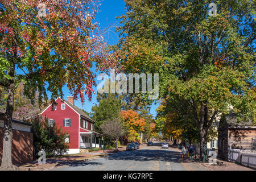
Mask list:
[{"label": "red wooden siding on the gable house's walls", "polygon": [[[71,107],[69,107],[65,102],[62,102],[60,98],[57,98],[57,109],[52,111],[52,106],[49,106],[43,113],[42,117],[47,117],[49,119],[55,119],[55,125],[62,128],[63,132],[68,131],[70,135],[70,149],[79,148],[79,114],[76,113]],[[61,104],[65,104],[65,109],[61,109]],[[63,119],[71,119],[71,126],[64,127]]]}]

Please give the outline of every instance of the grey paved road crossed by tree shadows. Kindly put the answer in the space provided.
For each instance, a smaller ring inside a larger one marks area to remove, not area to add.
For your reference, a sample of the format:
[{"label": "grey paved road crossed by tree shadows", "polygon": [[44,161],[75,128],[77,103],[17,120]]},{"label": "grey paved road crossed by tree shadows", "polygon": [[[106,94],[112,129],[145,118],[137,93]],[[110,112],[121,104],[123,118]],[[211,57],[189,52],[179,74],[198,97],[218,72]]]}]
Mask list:
[{"label": "grey paved road crossed by tree shadows", "polygon": [[58,171],[202,171],[201,164],[181,161],[176,148],[162,149],[160,146],[145,146],[135,151],[110,154],[104,158],[57,168]]}]

